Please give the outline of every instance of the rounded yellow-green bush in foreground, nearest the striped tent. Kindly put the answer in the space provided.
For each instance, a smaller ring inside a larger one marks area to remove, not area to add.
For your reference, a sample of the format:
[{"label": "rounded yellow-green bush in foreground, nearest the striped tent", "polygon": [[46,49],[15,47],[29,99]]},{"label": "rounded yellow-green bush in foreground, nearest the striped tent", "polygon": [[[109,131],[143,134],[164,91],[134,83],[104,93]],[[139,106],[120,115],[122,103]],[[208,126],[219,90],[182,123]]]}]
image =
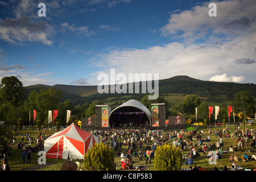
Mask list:
[{"label": "rounded yellow-green bush in foreground, nearest the striped tent", "polygon": [[93,166],[95,171],[113,171],[115,169],[114,153],[103,143],[94,144],[84,156],[85,170]]}]

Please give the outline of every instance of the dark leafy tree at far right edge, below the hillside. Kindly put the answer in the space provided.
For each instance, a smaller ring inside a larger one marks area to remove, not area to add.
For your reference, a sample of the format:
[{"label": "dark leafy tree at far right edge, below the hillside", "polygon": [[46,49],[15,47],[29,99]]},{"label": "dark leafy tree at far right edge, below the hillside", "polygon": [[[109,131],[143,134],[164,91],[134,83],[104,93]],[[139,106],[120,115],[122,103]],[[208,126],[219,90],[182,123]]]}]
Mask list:
[{"label": "dark leafy tree at far right edge, below the hillside", "polygon": [[233,106],[237,113],[246,111],[246,115],[249,117],[253,117],[255,113],[253,97],[251,97],[247,91],[240,91],[236,93]]}]

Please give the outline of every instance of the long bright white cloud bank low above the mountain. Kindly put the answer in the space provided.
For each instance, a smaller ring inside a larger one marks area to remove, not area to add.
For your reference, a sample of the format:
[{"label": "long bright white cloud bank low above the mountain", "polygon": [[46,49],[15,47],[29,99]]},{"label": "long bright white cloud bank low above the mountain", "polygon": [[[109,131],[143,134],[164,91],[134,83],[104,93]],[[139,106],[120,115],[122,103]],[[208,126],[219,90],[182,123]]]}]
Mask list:
[{"label": "long bright white cloud bank low above the mountain", "polygon": [[[255,59],[253,47],[256,47],[254,36],[238,37],[223,43],[185,44],[169,43],[147,49],[112,48],[99,53],[92,63],[108,73],[111,68],[116,72],[125,73],[159,73],[159,78],[177,75],[188,75],[201,80],[209,80],[214,75],[234,72],[254,80],[251,64],[237,64],[243,55]],[[105,68],[105,69],[102,69]],[[220,69],[221,68],[221,69]],[[245,81],[245,80],[241,80]]]}]

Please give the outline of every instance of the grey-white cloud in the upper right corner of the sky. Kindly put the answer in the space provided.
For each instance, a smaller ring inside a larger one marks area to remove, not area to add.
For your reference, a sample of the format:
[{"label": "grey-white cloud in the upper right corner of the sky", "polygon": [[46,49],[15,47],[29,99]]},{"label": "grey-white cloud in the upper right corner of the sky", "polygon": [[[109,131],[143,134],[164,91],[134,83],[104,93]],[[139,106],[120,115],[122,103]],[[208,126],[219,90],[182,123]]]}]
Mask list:
[{"label": "grey-white cloud in the upper right corner of the sky", "polygon": [[183,38],[205,38],[209,32],[214,35],[237,35],[243,31],[255,30],[255,6],[251,0],[214,2],[217,17],[210,17],[209,2],[191,10],[171,14],[168,24],[161,28],[163,36],[179,34]]}]

